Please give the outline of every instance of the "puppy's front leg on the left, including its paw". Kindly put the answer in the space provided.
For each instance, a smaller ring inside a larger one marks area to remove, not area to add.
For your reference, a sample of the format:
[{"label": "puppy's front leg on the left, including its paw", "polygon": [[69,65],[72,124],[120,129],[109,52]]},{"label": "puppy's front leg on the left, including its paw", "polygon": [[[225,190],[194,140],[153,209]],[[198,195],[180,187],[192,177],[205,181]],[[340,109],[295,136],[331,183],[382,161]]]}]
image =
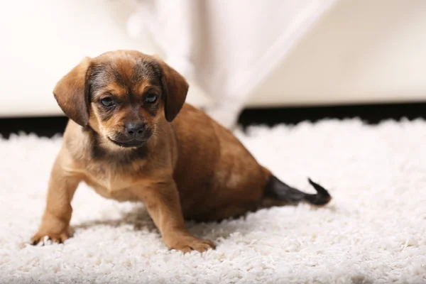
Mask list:
[{"label": "puppy's front leg on the left, including its paw", "polygon": [[53,242],[62,243],[70,237],[69,227],[72,214],[71,200],[80,179],[62,170],[58,160],[50,174],[45,212],[32,244],[43,241],[45,236]]}]

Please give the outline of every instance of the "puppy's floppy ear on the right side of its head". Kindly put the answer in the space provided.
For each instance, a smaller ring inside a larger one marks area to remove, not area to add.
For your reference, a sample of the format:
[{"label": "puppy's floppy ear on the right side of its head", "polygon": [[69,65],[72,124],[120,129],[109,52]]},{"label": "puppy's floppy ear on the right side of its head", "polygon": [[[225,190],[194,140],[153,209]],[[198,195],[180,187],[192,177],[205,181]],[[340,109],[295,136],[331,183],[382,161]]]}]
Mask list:
[{"label": "puppy's floppy ear on the right side of its head", "polygon": [[178,71],[167,65],[159,57],[155,58],[160,63],[161,87],[164,96],[164,112],[167,121],[173,121],[178,115],[187,96],[189,85]]}]

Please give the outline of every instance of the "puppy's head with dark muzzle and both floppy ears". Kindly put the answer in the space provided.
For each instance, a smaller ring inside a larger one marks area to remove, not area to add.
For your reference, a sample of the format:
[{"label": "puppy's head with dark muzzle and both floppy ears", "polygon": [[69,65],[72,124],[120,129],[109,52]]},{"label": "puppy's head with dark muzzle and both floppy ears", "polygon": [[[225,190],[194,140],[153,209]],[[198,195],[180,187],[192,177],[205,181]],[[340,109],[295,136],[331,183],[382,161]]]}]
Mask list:
[{"label": "puppy's head with dark muzzle and both floppy ears", "polygon": [[185,79],[159,58],[117,50],[84,58],[53,94],[70,119],[89,126],[104,143],[133,148],[175,119],[187,90]]}]

